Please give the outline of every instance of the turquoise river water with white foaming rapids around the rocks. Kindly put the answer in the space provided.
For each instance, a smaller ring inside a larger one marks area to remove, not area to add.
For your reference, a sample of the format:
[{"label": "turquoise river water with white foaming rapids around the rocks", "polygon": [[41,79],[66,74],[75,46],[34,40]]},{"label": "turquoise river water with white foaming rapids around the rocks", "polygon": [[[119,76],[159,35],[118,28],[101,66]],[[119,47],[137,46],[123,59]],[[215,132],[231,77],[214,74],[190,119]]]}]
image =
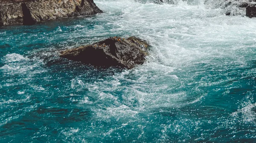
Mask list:
[{"label": "turquoise river water with white foaming rapids around the rocks", "polygon": [[[103,14],[0,28],[1,143],[256,142],[255,18],[200,0],[95,2]],[[147,40],[147,62],[58,57],[110,36]]]}]

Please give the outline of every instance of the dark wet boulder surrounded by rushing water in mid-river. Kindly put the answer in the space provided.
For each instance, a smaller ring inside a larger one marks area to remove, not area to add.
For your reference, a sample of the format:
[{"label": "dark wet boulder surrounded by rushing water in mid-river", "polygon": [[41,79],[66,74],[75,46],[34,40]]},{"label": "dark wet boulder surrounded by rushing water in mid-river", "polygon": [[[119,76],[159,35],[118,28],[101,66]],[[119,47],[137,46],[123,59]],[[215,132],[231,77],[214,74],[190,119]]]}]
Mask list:
[{"label": "dark wet boulder surrounded by rushing water in mid-river", "polygon": [[145,62],[148,46],[147,42],[136,37],[112,37],[93,45],[62,51],[60,56],[96,67],[131,69]]}]

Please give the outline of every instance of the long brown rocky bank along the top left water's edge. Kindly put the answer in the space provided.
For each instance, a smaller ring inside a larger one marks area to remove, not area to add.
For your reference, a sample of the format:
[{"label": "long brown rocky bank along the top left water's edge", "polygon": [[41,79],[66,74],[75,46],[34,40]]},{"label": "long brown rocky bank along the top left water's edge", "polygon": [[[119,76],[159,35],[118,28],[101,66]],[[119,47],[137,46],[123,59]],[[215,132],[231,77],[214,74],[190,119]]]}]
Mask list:
[{"label": "long brown rocky bank along the top left water's edge", "polygon": [[0,2],[0,25],[31,25],[43,20],[54,20],[102,11],[93,0],[6,0]]}]

